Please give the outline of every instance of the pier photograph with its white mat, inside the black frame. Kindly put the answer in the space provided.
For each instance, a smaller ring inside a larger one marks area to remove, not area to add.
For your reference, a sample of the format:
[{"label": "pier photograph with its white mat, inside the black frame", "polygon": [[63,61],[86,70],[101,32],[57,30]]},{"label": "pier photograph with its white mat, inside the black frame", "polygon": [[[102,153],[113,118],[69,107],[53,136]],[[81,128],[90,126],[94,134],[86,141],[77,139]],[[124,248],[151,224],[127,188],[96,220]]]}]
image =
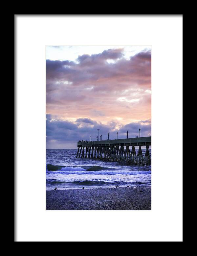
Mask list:
[{"label": "pier photograph with its white mat, inside the black frame", "polygon": [[183,241],[182,23],[15,14],[15,242]]}]

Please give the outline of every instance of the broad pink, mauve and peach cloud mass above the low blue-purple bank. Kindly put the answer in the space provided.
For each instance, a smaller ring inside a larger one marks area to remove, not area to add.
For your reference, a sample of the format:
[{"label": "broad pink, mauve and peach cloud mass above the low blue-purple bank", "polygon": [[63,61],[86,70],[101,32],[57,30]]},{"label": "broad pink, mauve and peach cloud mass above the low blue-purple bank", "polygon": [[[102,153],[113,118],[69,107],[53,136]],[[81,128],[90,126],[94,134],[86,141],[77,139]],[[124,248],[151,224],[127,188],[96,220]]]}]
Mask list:
[{"label": "broad pink, mauve and peach cloud mass above the low blue-purple bank", "polygon": [[125,123],[151,117],[150,50],[130,59],[123,49],[108,49],[78,56],[76,62],[46,60],[46,81],[47,113],[103,123],[115,116]]}]

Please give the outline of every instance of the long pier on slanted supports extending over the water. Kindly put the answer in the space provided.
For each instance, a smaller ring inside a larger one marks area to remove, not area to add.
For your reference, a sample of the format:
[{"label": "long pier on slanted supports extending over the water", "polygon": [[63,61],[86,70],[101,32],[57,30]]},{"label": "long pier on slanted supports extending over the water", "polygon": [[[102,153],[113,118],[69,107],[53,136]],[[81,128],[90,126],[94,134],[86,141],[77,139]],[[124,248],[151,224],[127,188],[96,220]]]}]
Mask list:
[{"label": "long pier on slanted supports extending over the water", "polygon": [[[151,136],[130,139],[117,139],[106,141],[79,141],[76,158],[93,158],[103,161],[126,161],[131,164],[148,165],[151,163],[149,146],[151,146]],[[139,146],[136,155],[135,146]],[[146,146],[143,156],[142,146]],[[131,147],[131,148],[130,148]]]}]

